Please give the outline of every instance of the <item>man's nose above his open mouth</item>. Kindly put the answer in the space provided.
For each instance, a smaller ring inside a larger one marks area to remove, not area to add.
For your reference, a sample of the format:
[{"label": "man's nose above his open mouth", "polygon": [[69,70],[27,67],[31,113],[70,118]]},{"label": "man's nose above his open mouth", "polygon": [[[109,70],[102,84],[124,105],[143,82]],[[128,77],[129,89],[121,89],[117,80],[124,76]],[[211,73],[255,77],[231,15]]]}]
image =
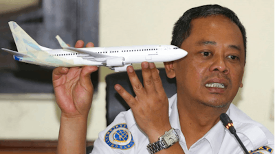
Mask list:
[{"label": "man's nose above his open mouth", "polygon": [[212,58],[213,62],[210,66],[210,72],[219,71],[221,73],[228,74],[229,68],[225,63],[225,58],[223,55],[216,55]]}]

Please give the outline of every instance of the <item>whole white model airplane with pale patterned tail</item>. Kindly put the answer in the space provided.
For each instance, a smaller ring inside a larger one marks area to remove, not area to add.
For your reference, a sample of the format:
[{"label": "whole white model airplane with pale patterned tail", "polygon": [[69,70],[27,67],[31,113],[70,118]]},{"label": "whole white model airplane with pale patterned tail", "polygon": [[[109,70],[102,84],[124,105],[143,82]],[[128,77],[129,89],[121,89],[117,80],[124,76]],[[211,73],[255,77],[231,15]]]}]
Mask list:
[{"label": "whole white model airplane with pale patterned tail", "polygon": [[11,53],[14,60],[41,66],[107,66],[118,72],[126,71],[132,63],[170,62],[187,55],[186,51],[173,45],[74,48],[69,47],[59,36],[56,39],[63,49],[49,49],[35,42],[14,21],[8,24],[18,52],[2,50]]}]

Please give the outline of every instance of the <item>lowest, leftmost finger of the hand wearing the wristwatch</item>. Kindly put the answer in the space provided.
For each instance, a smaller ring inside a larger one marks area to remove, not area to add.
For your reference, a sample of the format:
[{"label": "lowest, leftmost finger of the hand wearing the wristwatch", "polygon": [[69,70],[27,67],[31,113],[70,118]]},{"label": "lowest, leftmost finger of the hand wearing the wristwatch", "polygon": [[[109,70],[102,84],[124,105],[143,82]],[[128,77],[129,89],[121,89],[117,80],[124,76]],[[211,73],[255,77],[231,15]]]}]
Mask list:
[{"label": "lowest, leftmost finger of the hand wearing the wristwatch", "polygon": [[120,86],[119,84],[116,84],[115,90],[118,92],[118,94],[120,94],[122,99],[126,101],[129,107],[132,108],[135,105],[135,101],[136,101],[135,98],[131,94],[129,94],[129,92],[127,92],[122,86]]}]

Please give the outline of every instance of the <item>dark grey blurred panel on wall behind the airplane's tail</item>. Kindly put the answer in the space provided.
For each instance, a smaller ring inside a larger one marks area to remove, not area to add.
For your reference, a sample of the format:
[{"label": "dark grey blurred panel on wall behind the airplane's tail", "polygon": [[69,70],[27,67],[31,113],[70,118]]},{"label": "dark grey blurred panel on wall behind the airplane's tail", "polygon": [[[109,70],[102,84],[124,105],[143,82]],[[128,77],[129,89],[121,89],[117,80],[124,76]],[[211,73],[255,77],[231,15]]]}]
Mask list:
[{"label": "dark grey blurred panel on wall behind the airplane's tail", "polygon": [[[56,35],[72,46],[81,39],[98,47],[98,5],[99,0],[40,0],[32,7],[0,14],[0,47],[17,51],[8,21],[16,21],[43,47],[60,49]],[[51,93],[53,69],[14,61],[0,51],[0,93]],[[98,72],[91,77],[97,90]]]}]

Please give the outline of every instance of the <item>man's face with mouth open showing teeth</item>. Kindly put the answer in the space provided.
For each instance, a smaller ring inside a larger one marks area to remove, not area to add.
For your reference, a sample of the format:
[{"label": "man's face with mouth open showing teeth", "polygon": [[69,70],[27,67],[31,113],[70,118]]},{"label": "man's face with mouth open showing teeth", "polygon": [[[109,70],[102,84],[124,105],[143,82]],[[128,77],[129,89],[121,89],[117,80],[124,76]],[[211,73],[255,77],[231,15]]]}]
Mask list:
[{"label": "man's face with mouth open showing teeth", "polygon": [[211,107],[230,104],[242,87],[245,66],[239,27],[225,16],[197,18],[181,49],[188,55],[173,68],[182,101]]}]

